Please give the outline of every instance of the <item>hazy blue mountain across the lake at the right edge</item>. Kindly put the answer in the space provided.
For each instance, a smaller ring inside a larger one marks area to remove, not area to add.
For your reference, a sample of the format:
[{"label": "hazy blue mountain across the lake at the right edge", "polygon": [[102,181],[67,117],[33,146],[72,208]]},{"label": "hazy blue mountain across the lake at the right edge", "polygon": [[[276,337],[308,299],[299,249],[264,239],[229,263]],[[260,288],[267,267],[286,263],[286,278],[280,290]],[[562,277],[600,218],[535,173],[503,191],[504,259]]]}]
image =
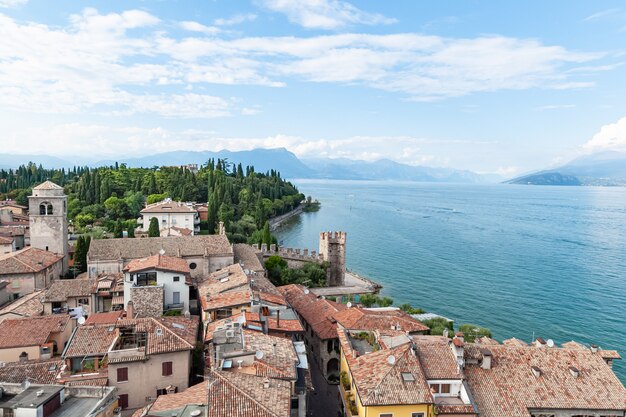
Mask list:
[{"label": "hazy blue mountain across the lake at the right edge", "polygon": [[626,154],[601,152],[576,158],[562,167],[507,181],[530,185],[626,185]]}]

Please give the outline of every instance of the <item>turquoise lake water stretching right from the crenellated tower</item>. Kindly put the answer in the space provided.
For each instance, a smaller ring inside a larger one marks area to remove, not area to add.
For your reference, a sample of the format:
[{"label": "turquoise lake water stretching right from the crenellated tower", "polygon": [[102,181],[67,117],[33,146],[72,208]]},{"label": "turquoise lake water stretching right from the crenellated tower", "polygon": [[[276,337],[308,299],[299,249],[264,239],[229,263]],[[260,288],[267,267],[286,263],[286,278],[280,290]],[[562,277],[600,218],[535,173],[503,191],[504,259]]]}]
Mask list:
[{"label": "turquoise lake water stretching right from the crenellated tower", "polygon": [[[317,249],[348,233],[347,265],[404,302],[503,340],[576,340],[626,356],[626,188],[296,181],[322,202],[276,234]],[[626,381],[626,357],[614,368]]]}]

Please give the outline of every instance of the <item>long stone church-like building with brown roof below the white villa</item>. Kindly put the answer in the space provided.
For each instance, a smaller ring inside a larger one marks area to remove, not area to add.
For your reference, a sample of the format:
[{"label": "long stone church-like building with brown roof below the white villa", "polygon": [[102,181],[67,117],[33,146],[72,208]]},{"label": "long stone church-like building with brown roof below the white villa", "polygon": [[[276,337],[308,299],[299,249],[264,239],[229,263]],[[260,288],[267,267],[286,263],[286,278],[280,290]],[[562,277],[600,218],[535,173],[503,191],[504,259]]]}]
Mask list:
[{"label": "long stone church-like building with brown roof below the white villa", "polygon": [[233,248],[226,235],[96,239],[91,241],[87,253],[89,277],[123,272],[133,259],[161,251],[165,256],[184,259],[193,278],[207,276],[234,262]]}]

